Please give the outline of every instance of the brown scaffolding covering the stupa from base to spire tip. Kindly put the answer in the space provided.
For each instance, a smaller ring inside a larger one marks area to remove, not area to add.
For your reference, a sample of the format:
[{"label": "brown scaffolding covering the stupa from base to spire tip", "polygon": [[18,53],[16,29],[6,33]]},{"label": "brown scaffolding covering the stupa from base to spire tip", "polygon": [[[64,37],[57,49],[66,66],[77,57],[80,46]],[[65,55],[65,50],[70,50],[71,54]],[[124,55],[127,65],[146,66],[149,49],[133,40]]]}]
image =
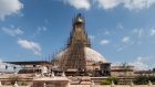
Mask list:
[{"label": "brown scaffolding covering the stupa from base to spire tip", "polygon": [[78,72],[86,70],[84,47],[90,46],[90,40],[85,33],[84,18],[78,14],[73,19],[72,31],[64,54],[59,59],[59,67],[64,72],[69,69],[76,69]]}]

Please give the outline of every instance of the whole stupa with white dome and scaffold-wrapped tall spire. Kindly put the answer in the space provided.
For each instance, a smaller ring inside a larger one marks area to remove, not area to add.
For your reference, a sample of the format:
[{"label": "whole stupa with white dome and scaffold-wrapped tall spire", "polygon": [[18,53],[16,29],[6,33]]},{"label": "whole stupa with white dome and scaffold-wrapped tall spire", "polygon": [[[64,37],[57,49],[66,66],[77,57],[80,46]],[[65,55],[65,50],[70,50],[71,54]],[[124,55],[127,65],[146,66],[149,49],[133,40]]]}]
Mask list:
[{"label": "whole stupa with white dome and scaffold-wrapped tall spire", "polygon": [[105,57],[91,47],[85,19],[81,14],[73,18],[66,47],[54,56],[52,63],[55,69],[63,72],[91,72],[100,68],[97,64],[106,63]]}]

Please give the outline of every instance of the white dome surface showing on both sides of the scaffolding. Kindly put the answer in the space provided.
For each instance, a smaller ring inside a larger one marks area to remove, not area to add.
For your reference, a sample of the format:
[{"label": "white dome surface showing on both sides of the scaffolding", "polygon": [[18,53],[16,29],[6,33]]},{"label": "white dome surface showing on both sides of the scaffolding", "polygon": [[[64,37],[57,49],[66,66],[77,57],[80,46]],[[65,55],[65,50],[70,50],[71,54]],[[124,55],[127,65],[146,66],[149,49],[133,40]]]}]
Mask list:
[{"label": "white dome surface showing on both sides of the scaffolding", "polygon": [[[56,54],[55,59],[60,59],[66,51],[68,51],[68,48],[60,52],[59,54]],[[84,52],[85,52],[86,61],[106,63],[106,58],[104,56],[102,56],[100,53],[97,53],[96,51],[94,51],[90,47],[84,47]]]}]

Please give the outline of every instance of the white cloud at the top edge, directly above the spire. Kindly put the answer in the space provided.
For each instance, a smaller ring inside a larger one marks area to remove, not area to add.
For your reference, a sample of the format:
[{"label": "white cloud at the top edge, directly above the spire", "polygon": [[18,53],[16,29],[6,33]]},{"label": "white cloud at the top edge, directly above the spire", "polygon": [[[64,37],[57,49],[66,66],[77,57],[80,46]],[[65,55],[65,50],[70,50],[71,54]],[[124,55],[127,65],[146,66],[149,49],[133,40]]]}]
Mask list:
[{"label": "white cloud at the top edge, directly above the spire", "polygon": [[63,1],[76,9],[89,10],[91,7],[90,0],[63,0]]}]

